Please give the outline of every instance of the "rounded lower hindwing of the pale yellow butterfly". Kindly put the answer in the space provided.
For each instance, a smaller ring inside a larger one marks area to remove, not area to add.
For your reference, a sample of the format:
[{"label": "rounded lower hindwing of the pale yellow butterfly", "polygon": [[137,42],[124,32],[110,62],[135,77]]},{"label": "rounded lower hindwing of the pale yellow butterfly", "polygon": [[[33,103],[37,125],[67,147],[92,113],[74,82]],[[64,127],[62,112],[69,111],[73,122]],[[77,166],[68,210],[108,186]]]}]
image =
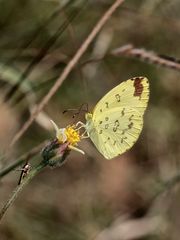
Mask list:
[{"label": "rounded lower hindwing of the pale yellow butterfly", "polygon": [[[117,118],[117,113],[119,117]],[[108,159],[127,151],[143,127],[142,116],[132,108],[112,108],[95,119],[90,138]]]}]

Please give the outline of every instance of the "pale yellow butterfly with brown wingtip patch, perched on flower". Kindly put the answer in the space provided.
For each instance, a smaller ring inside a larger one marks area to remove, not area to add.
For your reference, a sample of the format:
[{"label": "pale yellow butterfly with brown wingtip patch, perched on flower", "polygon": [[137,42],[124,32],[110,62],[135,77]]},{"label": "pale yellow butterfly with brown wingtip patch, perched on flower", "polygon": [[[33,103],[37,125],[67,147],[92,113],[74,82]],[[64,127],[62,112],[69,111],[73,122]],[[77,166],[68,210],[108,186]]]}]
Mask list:
[{"label": "pale yellow butterfly with brown wingtip patch, perched on flower", "polygon": [[105,158],[126,152],[137,141],[148,100],[148,79],[134,77],[109,91],[93,112],[85,115],[82,126]]}]

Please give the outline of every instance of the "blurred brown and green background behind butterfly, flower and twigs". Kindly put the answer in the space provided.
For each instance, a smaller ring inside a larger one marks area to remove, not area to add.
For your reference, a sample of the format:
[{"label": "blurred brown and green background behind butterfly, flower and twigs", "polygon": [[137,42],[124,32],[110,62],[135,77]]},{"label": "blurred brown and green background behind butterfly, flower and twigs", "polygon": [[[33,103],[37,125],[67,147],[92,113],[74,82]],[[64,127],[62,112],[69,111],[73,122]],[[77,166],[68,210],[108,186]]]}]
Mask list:
[{"label": "blurred brown and green background behind butterfly, flower and twigs", "polygon": [[[46,168],[20,194],[2,220],[1,240],[179,240],[178,184],[153,196],[161,182],[179,174],[180,72],[111,54],[130,43],[180,59],[178,0],[125,1],[36,121],[9,148],[14,134],[113,2],[0,0],[1,169],[54,138],[49,119],[59,127],[72,123],[72,113],[62,114],[63,110],[82,103],[92,110],[107,91],[134,76],[146,76],[151,91],[142,134],[131,150],[106,161],[90,140],[82,141],[85,156],[72,152],[65,165]],[[33,160],[40,159],[39,153]],[[12,171],[1,180],[1,206],[19,175]]]}]

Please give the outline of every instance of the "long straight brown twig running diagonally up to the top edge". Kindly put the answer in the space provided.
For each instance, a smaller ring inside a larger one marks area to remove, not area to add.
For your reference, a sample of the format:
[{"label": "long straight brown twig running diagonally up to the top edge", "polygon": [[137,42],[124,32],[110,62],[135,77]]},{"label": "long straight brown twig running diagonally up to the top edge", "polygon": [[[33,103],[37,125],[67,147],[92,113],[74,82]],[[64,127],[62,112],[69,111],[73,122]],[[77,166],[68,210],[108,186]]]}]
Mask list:
[{"label": "long straight brown twig running diagonally up to the top edge", "polygon": [[60,77],[57,79],[53,87],[50,89],[50,91],[45,95],[45,97],[42,99],[42,101],[38,104],[36,110],[34,113],[30,116],[30,118],[25,122],[25,124],[22,126],[22,128],[19,130],[19,132],[16,133],[14,138],[12,139],[11,146],[13,146],[20,137],[25,133],[25,131],[30,127],[30,125],[33,123],[35,118],[37,117],[38,113],[45,107],[45,105],[48,103],[48,101],[52,98],[52,96],[57,92],[63,81],[67,78],[67,76],[70,74],[72,69],[75,67],[76,63],[79,61],[81,56],[84,54],[84,52],[89,47],[90,43],[93,41],[93,39],[96,37],[98,32],[101,30],[101,28],[104,26],[104,24],[108,21],[108,19],[111,17],[111,15],[114,13],[114,11],[124,2],[125,0],[116,0],[112,6],[105,12],[105,14],[101,17],[101,19],[98,21],[98,23],[95,25],[91,33],[88,35],[86,40],[83,42],[81,47],[77,50],[73,58],[69,61],[68,65],[65,67],[64,71],[60,75]]}]

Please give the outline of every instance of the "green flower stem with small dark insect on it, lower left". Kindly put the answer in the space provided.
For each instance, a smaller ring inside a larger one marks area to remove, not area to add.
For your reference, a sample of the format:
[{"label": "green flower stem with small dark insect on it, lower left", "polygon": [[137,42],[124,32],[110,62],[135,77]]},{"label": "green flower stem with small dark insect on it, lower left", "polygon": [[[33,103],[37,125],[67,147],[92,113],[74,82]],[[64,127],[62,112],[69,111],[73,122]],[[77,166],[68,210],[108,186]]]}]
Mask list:
[{"label": "green flower stem with small dark insect on it, lower left", "polygon": [[0,210],[0,220],[3,218],[4,214],[8,210],[8,208],[14,203],[19,193],[24,189],[24,187],[31,181],[31,179],[36,176],[43,168],[47,166],[47,163],[41,162],[38,166],[36,166],[27,176],[23,179],[22,183],[16,187],[13,191],[10,198],[4,204],[2,209]]}]

